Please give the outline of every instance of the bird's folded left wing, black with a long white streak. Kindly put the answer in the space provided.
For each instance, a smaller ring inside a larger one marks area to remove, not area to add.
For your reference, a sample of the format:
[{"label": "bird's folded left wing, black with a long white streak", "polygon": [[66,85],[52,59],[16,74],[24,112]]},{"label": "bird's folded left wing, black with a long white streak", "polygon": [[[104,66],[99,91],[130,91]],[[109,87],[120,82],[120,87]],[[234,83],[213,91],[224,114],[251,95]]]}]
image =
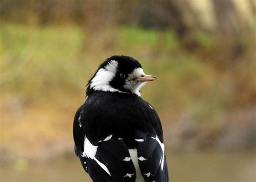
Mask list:
[{"label": "bird's folded left wing, black with a long white streak", "polygon": [[84,170],[93,181],[135,181],[136,172],[129,150],[122,138],[113,135],[101,141],[90,141],[81,125],[84,106],[75,115],[73,135],[75,153],[80,159]]}]

